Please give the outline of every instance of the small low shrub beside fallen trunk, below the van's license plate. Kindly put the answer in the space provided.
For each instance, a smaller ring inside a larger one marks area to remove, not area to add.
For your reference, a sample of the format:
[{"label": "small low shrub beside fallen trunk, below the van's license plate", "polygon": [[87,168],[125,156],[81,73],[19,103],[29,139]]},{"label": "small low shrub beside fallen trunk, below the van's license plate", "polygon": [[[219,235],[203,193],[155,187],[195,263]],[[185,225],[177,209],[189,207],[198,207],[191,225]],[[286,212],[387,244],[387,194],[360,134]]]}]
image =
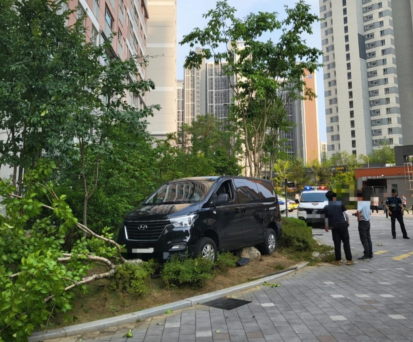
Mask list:
[{"label": "small low shrub beside fallen trunk, below the van's license plate", "polygon": [[146,295],[150,292],[152,274],[154,274],[154,266],[149,262],[126,262],[116,267],[109,289],[132,292],[138,296]]}]

